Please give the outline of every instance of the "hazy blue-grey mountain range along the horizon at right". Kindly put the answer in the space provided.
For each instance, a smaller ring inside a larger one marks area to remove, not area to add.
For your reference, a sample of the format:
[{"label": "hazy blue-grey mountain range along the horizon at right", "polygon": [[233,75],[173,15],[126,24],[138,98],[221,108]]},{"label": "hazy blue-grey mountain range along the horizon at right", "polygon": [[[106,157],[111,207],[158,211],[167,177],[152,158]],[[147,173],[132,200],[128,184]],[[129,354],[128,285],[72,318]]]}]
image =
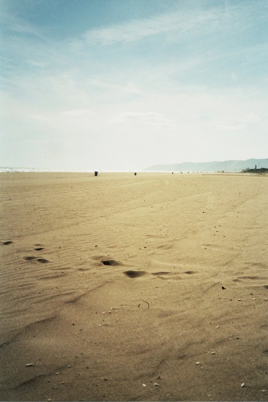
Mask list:
[{"label": "hazy blue-grey mountain range along the horizon at right", "polygon": [[214,161],[214,162],[184,162],[171,165],[154,165],[143,169],[144,171],[190,171],[190,172],[213,172],[213,171],[241,171],[243,169],[268,168],[268,159],[247,159],[246,161]]}]

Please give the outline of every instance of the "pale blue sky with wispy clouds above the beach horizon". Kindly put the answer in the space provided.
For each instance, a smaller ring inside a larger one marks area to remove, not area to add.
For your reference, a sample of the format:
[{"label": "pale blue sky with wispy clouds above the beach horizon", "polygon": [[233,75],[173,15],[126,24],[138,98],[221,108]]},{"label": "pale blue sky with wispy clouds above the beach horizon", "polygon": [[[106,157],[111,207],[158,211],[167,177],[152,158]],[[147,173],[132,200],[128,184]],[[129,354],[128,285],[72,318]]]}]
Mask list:
[{"label": "pale blue sky with wispy clouds above the beach horizon", "polygon": [[267,0],[0,0],[0,166],[267,158]]}]

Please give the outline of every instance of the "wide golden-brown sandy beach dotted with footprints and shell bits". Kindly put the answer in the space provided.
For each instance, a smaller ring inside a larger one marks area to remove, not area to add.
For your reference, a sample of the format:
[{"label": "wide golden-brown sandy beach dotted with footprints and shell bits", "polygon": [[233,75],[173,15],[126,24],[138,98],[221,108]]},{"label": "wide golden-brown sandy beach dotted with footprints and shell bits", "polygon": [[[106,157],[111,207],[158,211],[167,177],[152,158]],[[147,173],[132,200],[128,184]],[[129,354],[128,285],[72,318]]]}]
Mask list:
[{"label": "wide golden-brown sandy beach dotted with footprints and shell bits", "polygon": [[267,400],[268,177],[0,180],[1,400]]}]

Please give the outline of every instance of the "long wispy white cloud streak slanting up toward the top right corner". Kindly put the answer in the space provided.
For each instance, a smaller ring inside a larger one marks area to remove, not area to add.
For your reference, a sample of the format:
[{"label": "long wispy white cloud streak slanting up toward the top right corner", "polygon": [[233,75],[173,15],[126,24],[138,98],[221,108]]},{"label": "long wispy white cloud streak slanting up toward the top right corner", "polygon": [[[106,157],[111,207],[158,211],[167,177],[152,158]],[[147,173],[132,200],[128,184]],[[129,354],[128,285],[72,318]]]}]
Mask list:
[{"label": "long wispy white cloud streak slanting up toward the top right corner", "polygon": [[[215,2],[216,3],[216,2]],[[131,20],[122,24],[113,24],[101,28],[93,28],[83,35],[89,45],[112,45],[127,43],[143,39],[148,36],[170,33],[168,39],[173,41],[180,33],[200,30],[210,35],[220,29],[223,33],[240,30],[243,27],[253,26],[263,18],[261,10],[265,7],[262,0],[218,7],[217,4],[209,9],[187,8],[182,10],[154,15],[150,18]],[[243,25],[240,22],[243,21]]]}]

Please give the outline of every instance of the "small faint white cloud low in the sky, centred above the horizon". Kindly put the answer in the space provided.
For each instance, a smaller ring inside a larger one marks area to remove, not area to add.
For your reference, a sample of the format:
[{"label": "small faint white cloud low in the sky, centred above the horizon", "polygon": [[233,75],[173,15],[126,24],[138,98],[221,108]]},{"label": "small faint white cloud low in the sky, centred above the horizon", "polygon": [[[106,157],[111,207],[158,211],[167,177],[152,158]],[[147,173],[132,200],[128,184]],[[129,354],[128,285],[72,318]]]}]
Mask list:
[{"label": "small faint white cloud low in the sky, centred above the horizon", "polygon": [[137,121],[144,124],[149,124],[153,126],[167,126],[175,127],[176,124],[171,120],[165,119],[163,114],[156,112],[124,112],[119,114],[110,120],[111,122],[126,122],[126,121]]}]

